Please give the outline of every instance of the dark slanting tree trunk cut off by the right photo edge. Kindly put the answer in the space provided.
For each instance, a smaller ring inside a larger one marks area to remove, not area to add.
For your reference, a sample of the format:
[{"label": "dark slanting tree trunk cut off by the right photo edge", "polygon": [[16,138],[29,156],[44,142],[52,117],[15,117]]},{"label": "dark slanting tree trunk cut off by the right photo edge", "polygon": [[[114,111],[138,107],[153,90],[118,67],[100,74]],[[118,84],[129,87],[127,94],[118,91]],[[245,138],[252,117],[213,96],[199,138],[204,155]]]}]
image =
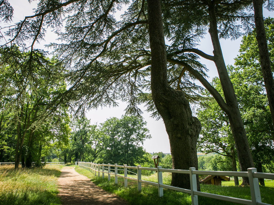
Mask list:
[{"label": "dark slanting tree trunk cut off by the right photo edge", "polygon": [[[264,28],[264,17],[262,15],[262,5],[262,0],[253,0],[256,39],[258,42],[262,76],[264,78],[264,85],[266,87],[267,99],[272,118],[272,126],[274,127],[274,79],[271,70],[269,51],[267,47],[266,31]],[[273,129],[272,132],[274,132]],[[272,138],[274,141],[274,134],[272,134]]]}]

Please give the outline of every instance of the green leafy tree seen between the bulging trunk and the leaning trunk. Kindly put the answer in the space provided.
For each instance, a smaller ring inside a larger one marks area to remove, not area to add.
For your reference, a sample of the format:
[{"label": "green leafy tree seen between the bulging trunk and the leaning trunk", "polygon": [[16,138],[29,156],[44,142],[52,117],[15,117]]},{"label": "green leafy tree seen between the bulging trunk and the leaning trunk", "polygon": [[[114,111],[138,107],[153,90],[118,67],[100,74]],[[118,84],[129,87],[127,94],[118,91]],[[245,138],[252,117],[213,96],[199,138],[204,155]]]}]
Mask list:
[{"label": "green leafy tree seen between the bulging trunk and the leaning trunk", "polygon": [[[213,79],[213,86],[221,90],[219,79]],[[200,102],[197,117],[201,121],[202,130],[198,139],[198,150],[203,153],[218,153],[230,158],[232,171],[237,171],[235,142],[226,113],[216,103],[215,99],[204,99]],[[235,186],[239,185],[238,177],[234,178]]]}]

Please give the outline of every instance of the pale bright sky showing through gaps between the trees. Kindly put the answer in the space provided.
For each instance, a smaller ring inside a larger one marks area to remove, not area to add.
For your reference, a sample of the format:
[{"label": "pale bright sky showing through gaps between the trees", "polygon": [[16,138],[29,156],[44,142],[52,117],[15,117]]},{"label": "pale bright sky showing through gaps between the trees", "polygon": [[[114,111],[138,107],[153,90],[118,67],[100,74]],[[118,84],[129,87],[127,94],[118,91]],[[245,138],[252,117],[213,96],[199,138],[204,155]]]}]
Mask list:
[{"label": "pale bright sky showing through gaps between the trees", "polygon": [[[14,22],[23,20],[25,16],[31,16],[32,8],[35,7],[35,3],[30,5],[27,0],[9,0],[9,2],[14,8]],[[264,10],[265,17],[274,17],[273,14],[274,12]],[[56,35],[49,30],[45,37],[45,42],[40,42],[40,44],[36,44],[35,46],[36,48],[43,49],[44,45],[49,44],[49,42],[52,42],[54,39],[56,39]],[[239,54],[238,50],[241,44],[241,38],[236,39],[235,41],[231,41],[230,39],[221,39],[220,43],[226,65],[233,65],[234,58]],[[209,55],[213,55],[213,47],[209,34],[207,34],[206,37],[202,39],[200,45],[197,46],[197,49],[202,50]],[[201,63],[205,64],[207,69],[209,69],[209,72],[207,73],[209,76],[209,82],[213,77],[218,76],[216,67],[212,61],[201,59]],[[86,116],[88,119],[90,119],[91,124],[103,123],[108,118],[121,118],[121,116],[125,113],[124,110],[126,107],[126,103],[120,102],[119,107],[103,107],[102,109],[99,108],[97,110],[89,110],[87,111]],[[145,140],[143,145],[144,149],[150,153],[170,153],[169,139],[163,121],[156,121],[155,119],[151,118],[151,113],[145,112],[144,107],[141,106],[140,109],[144,112],[142,116],[144,120],[147,121],[147,128],[150,130],[151,135],[151,139]]]}]

